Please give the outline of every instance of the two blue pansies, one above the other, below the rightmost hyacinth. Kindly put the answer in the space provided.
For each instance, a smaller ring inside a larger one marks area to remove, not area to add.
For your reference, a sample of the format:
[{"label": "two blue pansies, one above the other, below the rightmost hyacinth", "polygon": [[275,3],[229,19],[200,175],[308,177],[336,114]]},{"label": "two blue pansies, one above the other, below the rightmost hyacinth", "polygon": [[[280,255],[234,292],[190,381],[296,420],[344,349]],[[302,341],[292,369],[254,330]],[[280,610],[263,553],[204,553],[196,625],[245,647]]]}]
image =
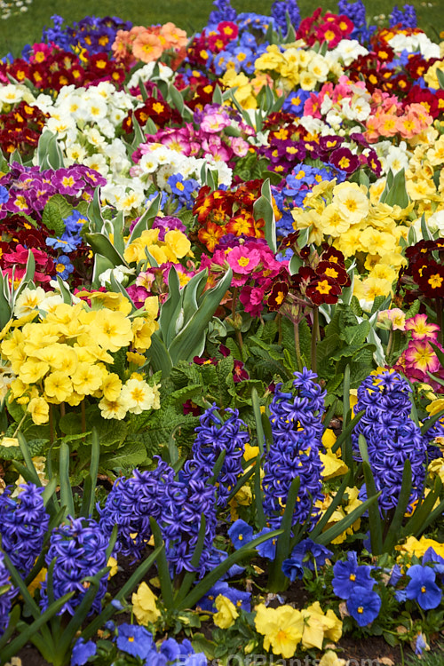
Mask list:
[{"label": "two blue pansies, one above the other, below the rightmost hyacinth", "polygon": [[358,565],[355,551],[347,553],[346,562],[338,561],[333,567],[333,591],[346,600],[348,612],[360,627],[373,622],[381,608],[381,598],[373,590],[376,581],[371,577],[372,569],[369,565]]}]

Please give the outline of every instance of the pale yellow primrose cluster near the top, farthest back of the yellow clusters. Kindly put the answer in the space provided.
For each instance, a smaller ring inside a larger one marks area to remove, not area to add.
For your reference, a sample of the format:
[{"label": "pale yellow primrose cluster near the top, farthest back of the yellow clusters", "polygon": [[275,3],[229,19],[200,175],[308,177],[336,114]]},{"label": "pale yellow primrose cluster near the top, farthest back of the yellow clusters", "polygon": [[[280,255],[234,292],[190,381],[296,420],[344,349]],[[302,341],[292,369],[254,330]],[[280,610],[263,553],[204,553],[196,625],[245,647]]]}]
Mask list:
[{"label": "pale yellow primrose cluster near the top, farthest back of the yellow clusters", "polygon": [[311,49],[301,46],[304,42],[283,44],[284,51],[277,44],[270,44],[255,61],[258,72],[266,72],[285,91],[302,88],[313,91],[317,83],[327,81],[329,75],[335,78],[342,75],[343,69],[334,59],[328,59]]}]

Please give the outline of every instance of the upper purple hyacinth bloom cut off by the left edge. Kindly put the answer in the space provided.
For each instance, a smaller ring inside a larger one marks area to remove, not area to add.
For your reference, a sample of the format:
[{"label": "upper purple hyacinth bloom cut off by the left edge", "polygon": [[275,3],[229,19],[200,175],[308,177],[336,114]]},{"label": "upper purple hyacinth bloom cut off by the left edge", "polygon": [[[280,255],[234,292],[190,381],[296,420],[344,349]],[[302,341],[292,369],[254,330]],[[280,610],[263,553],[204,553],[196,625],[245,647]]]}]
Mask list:
[{"label": "upper purple hyacinth bloom cut off by the left edge", "polygon": [[28,575],[40,555],[50,517],[44,508],[44,488],[34,483],[20,485],[17,497],[12,486],[0,495],[0,535],[2,548],[20,574]]}]

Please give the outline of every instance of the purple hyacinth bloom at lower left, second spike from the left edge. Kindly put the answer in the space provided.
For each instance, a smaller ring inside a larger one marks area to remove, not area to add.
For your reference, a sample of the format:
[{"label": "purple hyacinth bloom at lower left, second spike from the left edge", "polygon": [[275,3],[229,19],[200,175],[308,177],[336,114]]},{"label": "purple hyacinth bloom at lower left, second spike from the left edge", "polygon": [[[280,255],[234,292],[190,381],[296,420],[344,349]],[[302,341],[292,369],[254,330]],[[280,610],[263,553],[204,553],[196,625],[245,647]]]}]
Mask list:
[{"label": "purple hyacinth bloom at lower left, second spike from the left edge", "polygon": [[[52,531],[45,561],[49,567],[52,560],[56,559],[52,582],[54,599],[60,599],[67,592],[75,592],[60,608],[59,615],[75,614],[75,609],[81,604],[89,588],[89,583],[83,582],[83,579],[98,574],[100,569],[107,566],[108,543],[107,536],[92,518],[73,519],[68,516],[66,523]],[[94,611],[100,612],[101,601],[106,592],[107,575],[104,575],[100,579],[90,614]],[[48,607],[47,581],[42,583],[40,606],[43,610]]]}]

